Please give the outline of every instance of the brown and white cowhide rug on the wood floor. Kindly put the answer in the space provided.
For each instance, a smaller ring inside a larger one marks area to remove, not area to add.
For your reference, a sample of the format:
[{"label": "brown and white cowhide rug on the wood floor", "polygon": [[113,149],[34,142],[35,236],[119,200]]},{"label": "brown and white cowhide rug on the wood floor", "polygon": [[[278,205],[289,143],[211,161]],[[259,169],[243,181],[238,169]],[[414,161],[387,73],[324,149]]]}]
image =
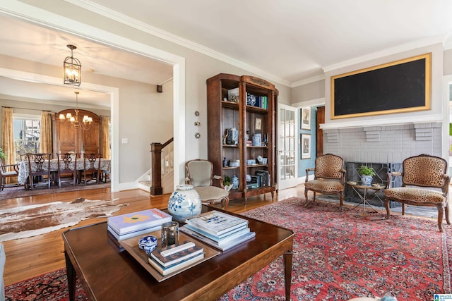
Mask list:
[{"label": "brown and white cowhide rug on the wood floor", "polygon": [[84,219],[111,216],[129,204],[111,200],[76,199],[73,202],[52,202],[0,211],[0,242],[29,238],[78,224]]}]

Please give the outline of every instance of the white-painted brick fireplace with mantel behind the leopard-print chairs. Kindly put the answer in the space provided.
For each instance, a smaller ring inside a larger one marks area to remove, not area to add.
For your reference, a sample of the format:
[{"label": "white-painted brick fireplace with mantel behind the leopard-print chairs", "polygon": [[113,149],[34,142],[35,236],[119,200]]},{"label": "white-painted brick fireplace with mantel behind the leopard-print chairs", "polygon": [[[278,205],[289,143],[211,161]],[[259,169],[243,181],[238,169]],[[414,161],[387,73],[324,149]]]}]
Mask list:
[{"label": "white-painted brick fireplace with mantel behind the leopard-print chairs", "polygon": [[[401,162],[409,156],[432,154],[441,156],[441,123],[406,123],[369,127],[331,128],[323,130],[323,153],[341,156],[345,161],[347,180],[359,180],[357,168],[372,166],[377,175],[374,182],[386,184],[388,171],[401,171]],[[399,180],[400,181],[400,180]],[[400,186],[401,183],[393,183]],[[384,206],[383,191],[371,192],[369,202]],[[361,202],[352,188],[345,191],[345,200]],[[391,204],[398,206],[398,203]]]}]

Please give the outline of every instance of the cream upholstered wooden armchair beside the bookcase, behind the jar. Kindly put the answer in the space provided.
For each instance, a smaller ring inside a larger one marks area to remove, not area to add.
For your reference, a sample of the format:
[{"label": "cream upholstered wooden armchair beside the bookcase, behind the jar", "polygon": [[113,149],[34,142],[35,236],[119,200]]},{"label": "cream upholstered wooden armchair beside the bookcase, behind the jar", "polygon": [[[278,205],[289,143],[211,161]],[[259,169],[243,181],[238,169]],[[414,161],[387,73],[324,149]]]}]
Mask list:
[{"label": "cream upholstered wooden armchair beside the bookcase, behind the jar", "polygon": [[[213,164],[207,160],[195,159],[185,164],[185,183],[194,186],[203,204],[214,204],[221,202],[222,207],[227,210],[229,205],[229,192],[223,186],[220,176],[213,176]],[[220,182],[220,187],[213,186],[213,179]]]}]

